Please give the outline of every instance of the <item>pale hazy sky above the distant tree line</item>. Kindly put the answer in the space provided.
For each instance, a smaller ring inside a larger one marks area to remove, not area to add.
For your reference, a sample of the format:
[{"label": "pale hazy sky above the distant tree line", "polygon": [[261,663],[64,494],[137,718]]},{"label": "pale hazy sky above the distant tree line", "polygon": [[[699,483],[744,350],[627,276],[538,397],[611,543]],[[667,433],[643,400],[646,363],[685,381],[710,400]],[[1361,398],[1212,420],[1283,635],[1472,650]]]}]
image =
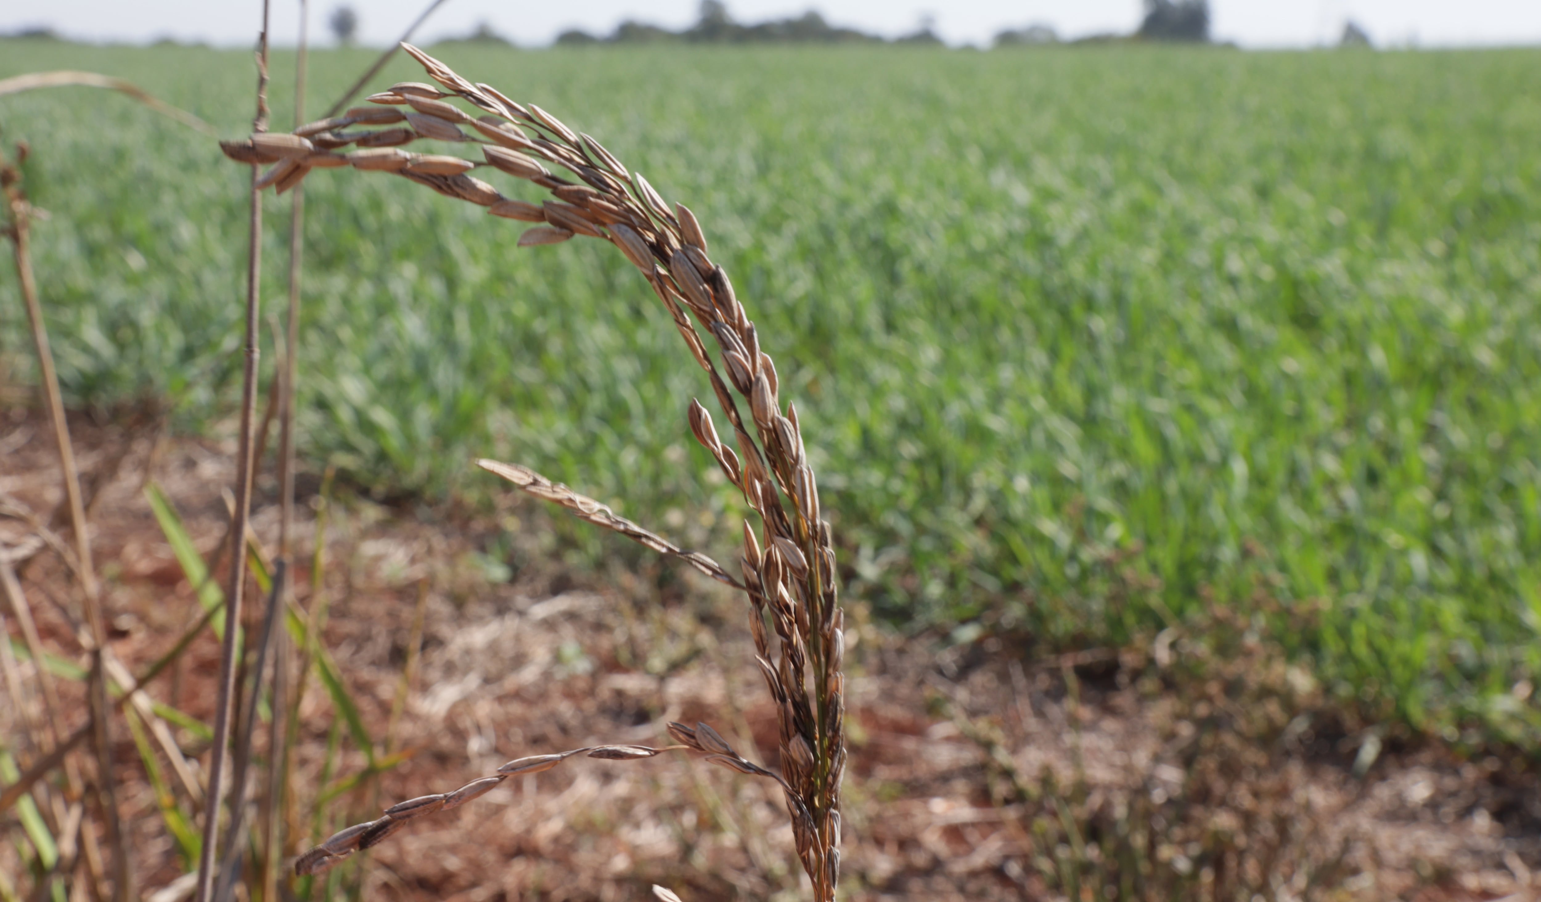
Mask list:
[{"label": "pale hazy sky above the distant tree line", "polygon": [[[342,2],[359,12],[361,40],[384,45],[425,6],[425,0],[313,0],[311,34],[330,42],[325,20]],[[419,35],[431,42],[465,34],[479,22],[522,45],[544,45],[562,29],[604,34],[624,19],[681,28],[697,19],[698,0],[448,0]],[[1128,32],[1140,0],[729,0],[740,22],[818,9],[835,25],[898,35],[931,17],[949,43],[989,43],[1002,28],[1054,26],[1060,37]],[[0,32],[51,26],[74,39],[146,42],[157,37],[250,45],[256,0],[48,0],[0,3]],[[1382,46],[1473,46],[1541,43],[1541,0],[1211,0],[1213,32],[1251,48],[1335,43],[1344,22],[1358,22]],[[273,37],[293,43],[299,0],[273,0]]]}]

